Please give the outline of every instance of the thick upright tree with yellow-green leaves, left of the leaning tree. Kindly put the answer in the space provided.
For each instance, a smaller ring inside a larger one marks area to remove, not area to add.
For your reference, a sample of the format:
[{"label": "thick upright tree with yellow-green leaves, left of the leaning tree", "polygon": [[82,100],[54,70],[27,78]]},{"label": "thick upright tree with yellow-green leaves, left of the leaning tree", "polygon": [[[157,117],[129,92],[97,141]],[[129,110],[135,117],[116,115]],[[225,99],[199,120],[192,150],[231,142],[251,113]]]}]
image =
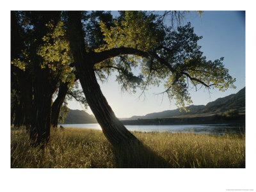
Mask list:
[{"label": "thick upright tree with yellow-green leaves, left of the leaning tree", "polygon": [[[76,79],[61,12],[12,12],[11,30],[12,68],[18,68],[33,82],[30,139],[36,145],[47,143],[51,119],[56,122],[55,116],[51,118],[51,111],[54,110],[54,115],[60,113],[65,99],[63,93],[72,88]],[[19,77],[18,82],[22,79]],[[52,95],[58,84],[60,97],[52,108]],[[23,88],[24,85],[20,85],[20,90]]]}]

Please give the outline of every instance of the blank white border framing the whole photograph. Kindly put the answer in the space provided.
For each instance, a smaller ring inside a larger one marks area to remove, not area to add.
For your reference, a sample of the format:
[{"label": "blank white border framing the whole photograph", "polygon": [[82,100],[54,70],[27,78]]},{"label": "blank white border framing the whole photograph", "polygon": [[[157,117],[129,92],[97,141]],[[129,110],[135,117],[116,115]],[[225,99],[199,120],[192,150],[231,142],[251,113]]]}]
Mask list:
[{"label": "blank white border framing the whole photograph", "polygon": [[[123,2],[123,3],[121,3]],[[252,1],[251,1],[252,2]],[[248,1],[9,1],[1,7],[1,191],[254,189],[255,6]],[[246,10],[245,169],[10,169],[10,10]],[[8,79],[8,80],[6,80]],[[41,182],[42,181],[42,182]]]}]

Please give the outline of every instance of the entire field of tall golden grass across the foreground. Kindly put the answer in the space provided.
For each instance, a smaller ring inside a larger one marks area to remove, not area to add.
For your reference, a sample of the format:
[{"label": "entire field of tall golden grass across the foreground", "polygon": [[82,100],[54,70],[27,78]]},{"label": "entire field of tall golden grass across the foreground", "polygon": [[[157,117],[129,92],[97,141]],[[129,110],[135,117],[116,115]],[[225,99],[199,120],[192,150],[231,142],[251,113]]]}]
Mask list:
[{"label": "entire field of tall golden grass across the foreground", "polygon": [[[150,156],[165,164],[148,160],[136,145],[129,149],[136,160],[127,152],[120,156],[99,130],[51,131],[49,143],[40,150],[30,146],[25,129],[12,127],[11,168],[245,168],[244,134],[133,133],[152,152]],[[140,159],[146,163],[136,164]]]}]

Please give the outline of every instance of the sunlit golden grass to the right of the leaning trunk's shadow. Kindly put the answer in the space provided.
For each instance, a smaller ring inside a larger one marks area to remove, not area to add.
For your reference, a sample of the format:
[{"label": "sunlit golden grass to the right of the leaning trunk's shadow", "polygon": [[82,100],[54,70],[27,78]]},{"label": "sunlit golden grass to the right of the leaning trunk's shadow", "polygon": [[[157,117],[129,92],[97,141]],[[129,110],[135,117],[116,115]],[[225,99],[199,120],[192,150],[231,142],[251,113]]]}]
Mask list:
[{"label": "sunlit golden grass to the right of the leaning trunk's shadow", "polygon": [[172,168],[244,168],[245,136],[152,132],[136,136]]}]

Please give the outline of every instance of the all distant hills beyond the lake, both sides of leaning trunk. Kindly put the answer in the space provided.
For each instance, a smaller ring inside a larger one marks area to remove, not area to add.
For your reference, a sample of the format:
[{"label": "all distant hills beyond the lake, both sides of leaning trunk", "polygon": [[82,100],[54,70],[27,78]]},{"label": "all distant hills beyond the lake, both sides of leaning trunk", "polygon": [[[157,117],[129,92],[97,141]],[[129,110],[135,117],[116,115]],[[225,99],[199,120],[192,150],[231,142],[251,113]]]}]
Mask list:
[{"label": "all distant hills beyond the lake, both sides of leaning trunk", "polygon": [[[245,87],[236,94],[228,95],[227,97],[216,99],[209,102],[206,106],[200,105],[188,106],[189,112],[182,112],[179,109],[162,111],[159,113],[148,113],[144,116],[132,116],[131,118],[121,118],[120,120],[138,120],[138,119],[154,119],[154,118],[168,118],[168,117],[179,117],[186,118],[191,115],[203,115],[214,114],[228,111],[229,109],[237,109],[239,113],[245,113]],[[68,109],[67,118],[65,118],[65,124],[94,124],[97,123],[95,116],[89,115],[83,110],[72,110]]]}]

